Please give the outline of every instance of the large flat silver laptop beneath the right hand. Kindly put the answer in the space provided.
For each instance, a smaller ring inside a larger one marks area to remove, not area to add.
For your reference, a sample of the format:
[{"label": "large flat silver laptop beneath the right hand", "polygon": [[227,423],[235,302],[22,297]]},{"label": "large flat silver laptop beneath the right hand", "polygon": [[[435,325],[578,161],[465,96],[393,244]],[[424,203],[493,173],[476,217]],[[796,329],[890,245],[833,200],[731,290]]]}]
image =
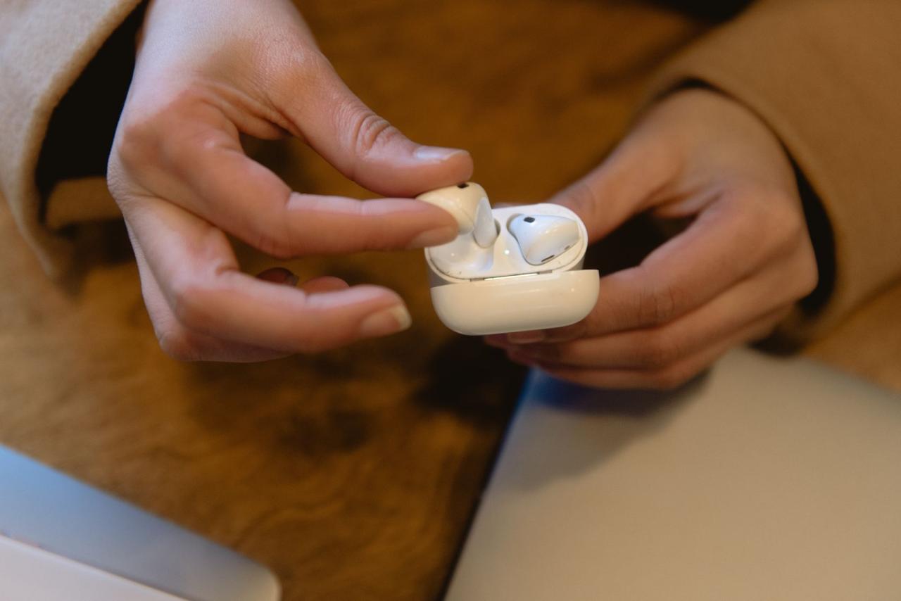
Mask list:
[{"label": "large flat silver laptop beneath the right hand", "polygon": [[750,350],[664,394],[533,372],[446,598],[901,599],[901,396]]}]

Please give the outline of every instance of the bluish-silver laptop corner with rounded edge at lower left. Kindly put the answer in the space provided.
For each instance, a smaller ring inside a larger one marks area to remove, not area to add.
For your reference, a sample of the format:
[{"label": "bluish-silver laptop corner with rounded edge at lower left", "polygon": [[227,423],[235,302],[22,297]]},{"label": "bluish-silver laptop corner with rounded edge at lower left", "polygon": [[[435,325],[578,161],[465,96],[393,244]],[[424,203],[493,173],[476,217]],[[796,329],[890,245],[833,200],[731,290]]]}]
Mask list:
[{"label": "bluish-silver laptop corner with rounded edge at lower left", "polygon": [[278,601],[263,566],[0,447],[3,601]]}]

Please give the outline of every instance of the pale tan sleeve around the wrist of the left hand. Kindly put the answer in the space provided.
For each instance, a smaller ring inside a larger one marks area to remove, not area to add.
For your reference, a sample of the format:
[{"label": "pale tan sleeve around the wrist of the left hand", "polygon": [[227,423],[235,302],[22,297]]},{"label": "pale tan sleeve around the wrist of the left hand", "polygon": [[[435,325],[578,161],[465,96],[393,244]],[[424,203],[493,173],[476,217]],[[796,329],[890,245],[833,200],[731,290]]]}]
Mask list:
[{"label": "pale tan sleeve around the wrist of the left hand", "polygon": [[[35,173],[50,117],[86,65],[140,0],[10,0],[0,3],[0,196],[51,274],[67,242],[48,229]],[[66,211],[103,214],[102,181],[67,182]],[[76,206],[73,206],[76,205]],[[65,212],[64,212],[65,213]],[[53,219],[70,221],[65,214]]]}]

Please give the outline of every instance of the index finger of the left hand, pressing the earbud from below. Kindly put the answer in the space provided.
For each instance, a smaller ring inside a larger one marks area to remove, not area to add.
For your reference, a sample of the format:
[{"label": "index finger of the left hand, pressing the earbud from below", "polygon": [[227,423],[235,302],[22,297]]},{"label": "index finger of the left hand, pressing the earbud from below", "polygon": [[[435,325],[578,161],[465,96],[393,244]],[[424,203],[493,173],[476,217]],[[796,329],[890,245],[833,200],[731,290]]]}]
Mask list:
[{"label": "index finger of the left hand, pressing the earbud from below", "polygon": [[451,215],[427,203],[292,192],[243,153],[218,108],[187,105],[174,112],[159,130],[123,135],[118,156],[125,167],[148,196],[166,198],[268,254],[402,249],[456,236]]}]

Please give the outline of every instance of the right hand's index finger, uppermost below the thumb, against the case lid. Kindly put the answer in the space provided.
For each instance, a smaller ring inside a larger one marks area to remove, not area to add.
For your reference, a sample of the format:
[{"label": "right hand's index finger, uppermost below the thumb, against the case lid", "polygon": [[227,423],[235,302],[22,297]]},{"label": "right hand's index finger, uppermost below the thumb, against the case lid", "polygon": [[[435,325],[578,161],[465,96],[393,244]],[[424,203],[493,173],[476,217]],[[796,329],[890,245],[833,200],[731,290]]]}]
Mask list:
[{"label": "right hand's index finger, uppermost below the thumb, against the case lid", "polygon": [[[535,341],[540,336],[543,341],[569,341],[650,328],[705,305],[774,257],[796,251],[785,244],[792,240],[789,233],[775,231],[787,232],[787,225],[770,223],[764,200],[724,198],[708,206],[685,232],[651,252],[641,265],[601,278],[597,304],[584,320],[510,340]],[[761,236],[761,230],[769,230],[768,235]]]}]

